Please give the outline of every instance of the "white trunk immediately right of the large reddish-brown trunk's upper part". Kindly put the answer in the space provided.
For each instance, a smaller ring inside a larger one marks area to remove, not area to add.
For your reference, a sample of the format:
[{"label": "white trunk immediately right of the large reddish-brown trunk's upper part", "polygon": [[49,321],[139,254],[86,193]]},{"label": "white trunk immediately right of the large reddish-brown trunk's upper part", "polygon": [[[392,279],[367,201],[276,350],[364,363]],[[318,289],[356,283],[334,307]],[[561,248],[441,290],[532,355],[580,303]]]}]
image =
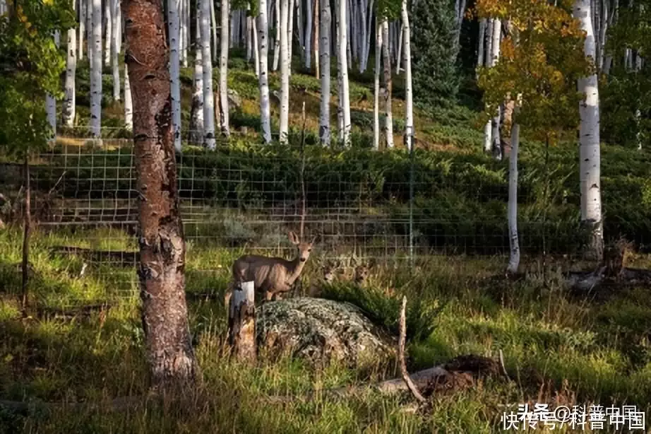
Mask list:
[{"label": "white trunk immediately right of the large reddish-brown trunk's upper part", "polygon": [[172,131],[174,149],[181,152],[181,78],[179,68],[179,37],[181,37],[181,0],[167,0],[167,31],[169,38],[169,82],[172,98]]}]

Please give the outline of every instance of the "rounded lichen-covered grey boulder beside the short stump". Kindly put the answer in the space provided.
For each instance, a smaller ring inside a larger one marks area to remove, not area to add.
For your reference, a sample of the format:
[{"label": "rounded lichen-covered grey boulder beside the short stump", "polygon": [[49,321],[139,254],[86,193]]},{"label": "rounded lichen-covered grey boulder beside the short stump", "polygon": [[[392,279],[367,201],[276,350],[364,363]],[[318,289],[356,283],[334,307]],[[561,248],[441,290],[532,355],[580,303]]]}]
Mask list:
[{"label": "rounded lichen-covered grey boulder beside the short stump", "polygon": [[388,362],[395,356],[391,338],[350,303],[322,298],[289,298],[258,307],[258,349],[323,364],[338,360],[350,367]]}]

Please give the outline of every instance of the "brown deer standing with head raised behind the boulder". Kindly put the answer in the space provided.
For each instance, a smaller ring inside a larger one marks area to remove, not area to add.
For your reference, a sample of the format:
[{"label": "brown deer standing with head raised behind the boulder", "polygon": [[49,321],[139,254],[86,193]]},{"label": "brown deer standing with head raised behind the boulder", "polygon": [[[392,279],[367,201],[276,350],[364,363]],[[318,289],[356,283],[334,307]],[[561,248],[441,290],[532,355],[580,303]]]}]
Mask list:
[{"label": "brown deer standing with head raised behind the boulder", "polygon": [[316,236],[310,242],[301,242],[294,231],[289,232],[289,241],[297,247],[298,252],[291,261],[257,254],[239,257],[232,268],[234,287],[237,288],[241,282],[253,281],[256,291],[262,292],[265,300],[280,299],[280,295],[287,293],[301,275],[314,240]]}]

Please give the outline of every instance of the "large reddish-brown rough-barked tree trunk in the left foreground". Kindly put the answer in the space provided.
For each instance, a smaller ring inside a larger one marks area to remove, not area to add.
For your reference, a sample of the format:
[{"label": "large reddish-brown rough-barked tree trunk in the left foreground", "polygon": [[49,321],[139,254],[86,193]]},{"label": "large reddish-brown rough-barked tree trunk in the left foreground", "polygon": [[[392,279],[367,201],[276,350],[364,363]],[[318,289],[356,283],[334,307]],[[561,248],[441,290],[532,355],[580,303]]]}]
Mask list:
[{"label": "large reddish-brown rough-barked tree trunk in the left foreground", "polygon": [[185,298],[185,242],[172,135],[162,3],[126,0],[145,346],[153,385],[193,382],[198,365]]}]

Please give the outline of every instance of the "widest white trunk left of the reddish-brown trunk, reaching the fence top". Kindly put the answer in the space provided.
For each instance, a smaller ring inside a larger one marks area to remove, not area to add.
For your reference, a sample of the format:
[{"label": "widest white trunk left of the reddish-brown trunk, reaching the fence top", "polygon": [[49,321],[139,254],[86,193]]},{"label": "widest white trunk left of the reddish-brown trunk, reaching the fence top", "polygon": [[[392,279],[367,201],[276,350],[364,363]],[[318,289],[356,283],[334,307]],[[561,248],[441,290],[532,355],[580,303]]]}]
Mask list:
[{"label": "widest white trunk left of the reddish-brown trunk, reaching the fence top", "polygon": [[102,128],[102,0],[91,1],[92,63],[90,64],[90,131],[93,137],[99,139]]}]

